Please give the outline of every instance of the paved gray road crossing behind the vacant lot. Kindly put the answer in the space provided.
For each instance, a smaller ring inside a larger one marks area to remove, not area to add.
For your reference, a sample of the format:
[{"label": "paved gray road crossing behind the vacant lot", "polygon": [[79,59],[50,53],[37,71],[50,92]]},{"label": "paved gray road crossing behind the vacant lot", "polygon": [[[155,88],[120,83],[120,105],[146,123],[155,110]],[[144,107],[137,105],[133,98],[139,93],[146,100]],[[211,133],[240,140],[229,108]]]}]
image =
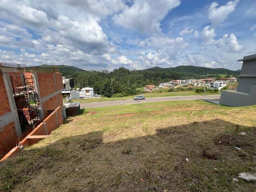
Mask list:
[{"label": "paved gray road crossing behind the vacant lot", "polygon": [[102,102],[91,102],[91,103],[80,103],[80,108],[94,108],[94,107],[107,107],[125,104],[140,104],[140,103],[151,103],[161,101],[179,101],[179,100],[208,100],[208,99],[219,99],[220,95],[194,95],[194,96],[172,96],[172,97],[154,97],[146,98],[145,100],[115,100],[115,101],[102,101]]}]

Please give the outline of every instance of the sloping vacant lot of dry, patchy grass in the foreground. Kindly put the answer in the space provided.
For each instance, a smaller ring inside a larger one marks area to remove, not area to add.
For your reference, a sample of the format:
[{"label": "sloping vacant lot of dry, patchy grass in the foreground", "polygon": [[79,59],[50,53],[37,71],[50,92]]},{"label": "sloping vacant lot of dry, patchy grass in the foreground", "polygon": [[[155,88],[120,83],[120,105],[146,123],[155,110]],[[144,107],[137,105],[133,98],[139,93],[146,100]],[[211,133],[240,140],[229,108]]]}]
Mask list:
[{"label": "sloping vacant lot of dry, patchy grass in the foreground", "polygon": [[255,125],[256,106],[198,100],[84,110],[0,162],[0,189],[255,191],[253,182],[232,181],[256,172]]}]

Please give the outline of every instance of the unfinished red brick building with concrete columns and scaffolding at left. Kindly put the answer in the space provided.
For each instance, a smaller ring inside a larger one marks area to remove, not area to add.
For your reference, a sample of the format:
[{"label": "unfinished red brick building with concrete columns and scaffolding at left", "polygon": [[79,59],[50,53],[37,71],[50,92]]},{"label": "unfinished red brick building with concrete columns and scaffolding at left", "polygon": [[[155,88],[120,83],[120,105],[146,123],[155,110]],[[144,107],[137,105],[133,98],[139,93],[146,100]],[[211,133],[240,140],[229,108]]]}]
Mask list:
[{"label": "unfinished red brick building with concrete columns and scaffolding at left", "polygon": [[0,63],[0,158],[62,124],[62,74],[21,72],[24,67]]}]

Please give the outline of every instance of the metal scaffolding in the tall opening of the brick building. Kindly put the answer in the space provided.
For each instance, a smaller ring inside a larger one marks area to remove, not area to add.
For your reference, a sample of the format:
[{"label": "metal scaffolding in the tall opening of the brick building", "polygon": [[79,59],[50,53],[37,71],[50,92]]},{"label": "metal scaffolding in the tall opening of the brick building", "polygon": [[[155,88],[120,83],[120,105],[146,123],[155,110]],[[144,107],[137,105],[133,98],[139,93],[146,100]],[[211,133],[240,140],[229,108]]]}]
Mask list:
[{"label": "metal scaffolding in the tall opening of the brick building", "polygon": [[22,133],[40,123],[39,102],[32,74],[10,75]]}]

